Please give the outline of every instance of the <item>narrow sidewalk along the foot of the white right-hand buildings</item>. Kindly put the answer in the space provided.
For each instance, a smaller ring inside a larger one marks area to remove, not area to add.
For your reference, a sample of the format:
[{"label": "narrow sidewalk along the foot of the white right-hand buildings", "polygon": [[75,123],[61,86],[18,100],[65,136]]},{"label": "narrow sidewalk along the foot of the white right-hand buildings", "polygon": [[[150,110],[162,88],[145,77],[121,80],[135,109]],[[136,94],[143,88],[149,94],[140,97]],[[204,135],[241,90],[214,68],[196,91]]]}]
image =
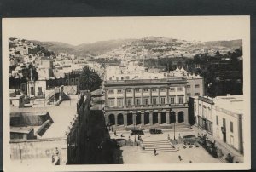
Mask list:
[{"label": "narrow sidewalk along the foot of the white right-hand buildings", "polygon": [[[196,126],[193,126],[192,129],[195,132],[202,133],[201,129],[198,129]],[[222,149],[224,156],[226,156],[228,153],[230,153],[232,156],[235,156],[236,159],[234,161],[238,160],[240,163],[243,163],[243,155],[239,152],[237,152],[234,148],[230,147],[229,145],[225,144],[222,140],[219,140],[218,138],[213,137],[212,135],[207,135],[208,138],[211,140],[216,140],[216,146]]]}]

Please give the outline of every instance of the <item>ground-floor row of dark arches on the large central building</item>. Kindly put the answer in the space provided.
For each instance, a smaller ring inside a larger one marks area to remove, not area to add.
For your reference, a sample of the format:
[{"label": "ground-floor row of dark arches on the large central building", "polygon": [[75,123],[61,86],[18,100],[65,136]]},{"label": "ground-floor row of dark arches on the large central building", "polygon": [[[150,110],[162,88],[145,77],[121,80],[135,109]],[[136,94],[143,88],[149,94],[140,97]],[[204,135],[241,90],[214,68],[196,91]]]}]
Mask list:
[{"label": "ground-floor row of dark arches on the large central building", "polygon": [[109,112],[105,118],[107,123],[115,126],[188,123],[188,113],[183,109],[171,112]]}]

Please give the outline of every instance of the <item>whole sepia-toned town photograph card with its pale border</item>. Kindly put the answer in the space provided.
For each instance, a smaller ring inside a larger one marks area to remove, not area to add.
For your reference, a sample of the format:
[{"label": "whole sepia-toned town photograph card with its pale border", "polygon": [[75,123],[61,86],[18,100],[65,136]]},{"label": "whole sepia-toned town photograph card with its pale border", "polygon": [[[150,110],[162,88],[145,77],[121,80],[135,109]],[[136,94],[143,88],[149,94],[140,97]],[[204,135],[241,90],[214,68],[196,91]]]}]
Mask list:
[{"label": "whole sepia-toned town photograph card with its pale border", "polygon": [[3,19],[7,171],[250,169],[250,17]]}]

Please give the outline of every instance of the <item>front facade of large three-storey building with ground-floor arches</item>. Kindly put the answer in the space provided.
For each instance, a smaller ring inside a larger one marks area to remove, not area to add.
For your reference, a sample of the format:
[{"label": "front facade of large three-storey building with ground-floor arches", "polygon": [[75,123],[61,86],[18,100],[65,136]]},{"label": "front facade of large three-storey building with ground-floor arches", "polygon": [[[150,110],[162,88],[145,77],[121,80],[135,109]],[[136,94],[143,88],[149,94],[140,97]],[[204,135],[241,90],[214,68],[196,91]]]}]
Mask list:
[{"label": "front facade of large three-storey building with ground-floor arches", "polygon": [[188,123],[185,78],[107,80],[105,119],[114,126]]}]

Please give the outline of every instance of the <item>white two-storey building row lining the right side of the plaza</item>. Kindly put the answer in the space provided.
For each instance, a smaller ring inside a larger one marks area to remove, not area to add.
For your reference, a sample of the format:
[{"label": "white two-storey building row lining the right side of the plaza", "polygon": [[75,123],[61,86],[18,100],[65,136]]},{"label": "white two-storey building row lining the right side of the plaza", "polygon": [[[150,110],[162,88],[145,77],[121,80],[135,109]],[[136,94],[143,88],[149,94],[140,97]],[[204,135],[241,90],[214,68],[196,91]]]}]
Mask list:
[{"label": "white two-storey building row lining the right side of the plaza", "polygon": [[216,140],[243,153],[243,96],[217,96],[213,99],[199,96],[191,100],[193,103],[189,104],[189,108],[194,111],[189,115],[195,117],[195,125]]}]

